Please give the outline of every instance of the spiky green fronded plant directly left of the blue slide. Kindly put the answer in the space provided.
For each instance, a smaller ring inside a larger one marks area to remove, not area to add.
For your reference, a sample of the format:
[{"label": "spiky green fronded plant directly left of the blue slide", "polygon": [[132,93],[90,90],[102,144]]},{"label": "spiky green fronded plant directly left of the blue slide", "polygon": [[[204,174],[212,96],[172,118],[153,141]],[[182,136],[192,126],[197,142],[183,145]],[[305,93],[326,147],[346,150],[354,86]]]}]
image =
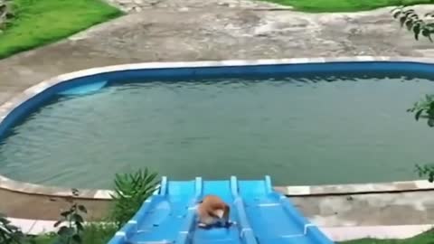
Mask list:
[{"label": "spiky green fronded plant directly left of the blue slide", "polygon": [[143,202],[157,189],[156,173],[147,169],[134,174],[116,174],[115,194],[112,194],[114,206],[111,218],[118,228],[129,221]]}]

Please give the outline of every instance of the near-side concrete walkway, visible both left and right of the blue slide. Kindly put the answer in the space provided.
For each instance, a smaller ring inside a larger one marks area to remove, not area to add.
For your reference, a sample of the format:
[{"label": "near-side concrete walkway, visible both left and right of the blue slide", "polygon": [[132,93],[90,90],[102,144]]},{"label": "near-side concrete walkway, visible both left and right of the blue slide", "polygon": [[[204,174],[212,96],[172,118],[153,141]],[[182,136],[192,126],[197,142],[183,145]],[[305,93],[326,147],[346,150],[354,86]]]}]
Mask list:
[{"label": "near-side concrete walkway, visible both left and right of the blue slide", "polygon": [[[434,222],[434,192],[375,193],[340,196],[291,197],[309,220],[321,227],[420,225]],[[0,190],[0,211],[8,216],[56,220],[68,202],[61,198]],[[5,201],[4,201],[5,200]],[[88,221],[107,217],[109,201],[80,200]]]}]

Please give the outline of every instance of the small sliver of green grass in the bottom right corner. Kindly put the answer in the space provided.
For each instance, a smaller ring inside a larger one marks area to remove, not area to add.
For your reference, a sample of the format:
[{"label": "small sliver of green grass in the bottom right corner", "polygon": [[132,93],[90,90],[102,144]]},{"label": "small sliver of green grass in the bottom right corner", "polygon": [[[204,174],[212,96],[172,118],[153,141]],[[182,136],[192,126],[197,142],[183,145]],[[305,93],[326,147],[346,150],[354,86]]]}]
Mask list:
[{"label": "small sliver of green grass in the bottom right corner", "polygon": [[429,230],[410,239],[355,239],[342,244],[433,244],[434,231]]}]

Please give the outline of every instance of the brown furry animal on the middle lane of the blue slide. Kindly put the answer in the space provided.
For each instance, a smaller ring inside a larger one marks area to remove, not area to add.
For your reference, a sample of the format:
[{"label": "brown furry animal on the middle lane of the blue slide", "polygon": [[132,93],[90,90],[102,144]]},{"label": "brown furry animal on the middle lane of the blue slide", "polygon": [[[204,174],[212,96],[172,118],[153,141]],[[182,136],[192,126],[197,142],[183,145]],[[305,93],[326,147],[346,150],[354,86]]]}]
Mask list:
[{"label": "brown furry animal on the middle lane of the blue slide", "polygon": [[223,202],[219,196],[206,195],[197,207],[199,216],[199,227],[209,227],[219,221],[223,221],[227,226],[231,224],[229,214],[231,208],[226,202]]}]

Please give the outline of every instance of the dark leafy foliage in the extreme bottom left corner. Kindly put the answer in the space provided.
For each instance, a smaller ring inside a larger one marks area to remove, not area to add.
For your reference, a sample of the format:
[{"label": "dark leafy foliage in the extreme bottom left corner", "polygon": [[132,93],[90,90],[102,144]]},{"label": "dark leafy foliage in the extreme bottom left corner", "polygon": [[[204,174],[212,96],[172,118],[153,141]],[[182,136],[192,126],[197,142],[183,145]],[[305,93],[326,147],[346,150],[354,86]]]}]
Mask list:
[{"label": "dark leafy foliage in the extreme bottom left corner", "polygon": [[6,219],[5,215],[0,214],[0,243],[31,244],[34,242],[33,239],[26,237],[18,227],[12,225],[11,222]]}]

